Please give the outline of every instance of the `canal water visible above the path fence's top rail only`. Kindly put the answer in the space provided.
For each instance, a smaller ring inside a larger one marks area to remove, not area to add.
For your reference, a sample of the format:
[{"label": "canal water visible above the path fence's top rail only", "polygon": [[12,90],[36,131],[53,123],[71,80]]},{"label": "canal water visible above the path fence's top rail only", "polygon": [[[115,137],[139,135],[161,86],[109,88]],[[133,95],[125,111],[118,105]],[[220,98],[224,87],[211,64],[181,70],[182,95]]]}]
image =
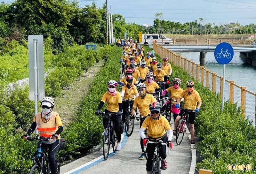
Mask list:
[{"label": "canal water visible above the path fence's top rail only", "polygon": [[[200,64],[200,52],[176,52],[184,58]],[[206,55],[206,69],[211,72],[216,72],[217,75],[222,76],[223,65],[218,64],[214,58],[214,52],[207,52]],[[239,86],[245,86],[247,90],[256,93],[256,68],[252,65],[245,63],[239,56],[238,52],[234,53],[234,57],[229,64],[226,65],[225,79],[234,80]]]}]

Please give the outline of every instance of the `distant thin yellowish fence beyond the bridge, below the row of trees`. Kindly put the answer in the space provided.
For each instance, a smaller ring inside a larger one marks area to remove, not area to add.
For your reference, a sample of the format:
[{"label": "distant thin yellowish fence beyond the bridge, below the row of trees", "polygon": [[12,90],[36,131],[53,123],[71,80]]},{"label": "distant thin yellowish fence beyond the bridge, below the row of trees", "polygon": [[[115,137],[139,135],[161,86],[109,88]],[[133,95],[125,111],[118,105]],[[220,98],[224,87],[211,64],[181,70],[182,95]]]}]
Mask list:
[{"label": "distant thin yellowish fence beyond the bridge, below the row of trees", "polygon": [[249,38],[251,34],[164,34],[171,39]]}]

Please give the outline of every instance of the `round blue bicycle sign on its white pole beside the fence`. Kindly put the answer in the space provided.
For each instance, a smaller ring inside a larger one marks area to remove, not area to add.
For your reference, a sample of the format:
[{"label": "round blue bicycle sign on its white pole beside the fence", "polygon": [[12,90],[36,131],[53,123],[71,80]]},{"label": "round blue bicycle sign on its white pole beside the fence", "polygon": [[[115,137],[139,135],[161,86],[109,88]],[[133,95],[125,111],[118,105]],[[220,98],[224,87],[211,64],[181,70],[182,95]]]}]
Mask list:
[{"label": "round blue bicycle sign on its white pole beside the fence", "polygon": [[222,101],[221,101],[221,110],[223,110],[226,64],[228,64],[234,57],[234,49],[229,43],[222,42],[219,45],[217,45],[216,48],[214,49],[214,57],[219,64],[223,64]]}]

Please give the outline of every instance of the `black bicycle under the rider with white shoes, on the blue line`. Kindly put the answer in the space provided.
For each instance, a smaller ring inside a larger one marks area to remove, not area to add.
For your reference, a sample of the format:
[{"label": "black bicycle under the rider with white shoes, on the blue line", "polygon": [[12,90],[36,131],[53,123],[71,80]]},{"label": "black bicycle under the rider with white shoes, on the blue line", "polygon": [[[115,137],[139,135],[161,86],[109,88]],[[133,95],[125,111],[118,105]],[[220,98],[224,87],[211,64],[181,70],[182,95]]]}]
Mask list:
[{"label": "black bicycle under the rider with white shoes, on the blue line", "polygon": [[105,160],[108,159],[109,155],[109,148],[110,145],[112,144],[113,152],[116,152],[116,145],[117,145],[117,138],[116,138],[116,132],[114,128],[113,121],[110,120],[111,115],[117,115],[114,113],[105,113],[105,112],[100,112],[101,116],[108,116],[108,125],[107,128],[105,129],[104,136],[103,136],[103,157]]}]

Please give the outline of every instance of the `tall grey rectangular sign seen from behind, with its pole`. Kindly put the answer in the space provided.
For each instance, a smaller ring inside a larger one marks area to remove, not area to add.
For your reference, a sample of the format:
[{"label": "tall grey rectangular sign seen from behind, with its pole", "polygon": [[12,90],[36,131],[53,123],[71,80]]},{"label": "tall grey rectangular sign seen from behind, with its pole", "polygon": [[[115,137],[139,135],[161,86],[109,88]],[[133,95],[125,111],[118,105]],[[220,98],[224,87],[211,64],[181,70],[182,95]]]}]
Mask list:
[{"label": "tall grey rectangular sign seen from behind, with its pole", "polygon": [[[44,36],[28,36],[28,67],[29,67],[29,100],[37,101],[44,98]],[[37,129],[36,129],[37,134]]]}]

